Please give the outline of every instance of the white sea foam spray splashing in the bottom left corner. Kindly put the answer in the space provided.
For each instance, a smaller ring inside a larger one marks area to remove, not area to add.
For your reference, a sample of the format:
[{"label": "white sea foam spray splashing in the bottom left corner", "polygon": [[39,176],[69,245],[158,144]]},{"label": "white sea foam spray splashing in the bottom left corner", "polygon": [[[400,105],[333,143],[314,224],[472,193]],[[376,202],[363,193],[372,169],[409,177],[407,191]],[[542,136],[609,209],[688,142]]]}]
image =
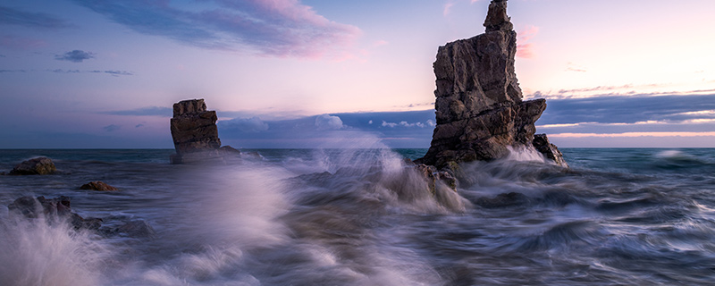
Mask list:
[{"label": "white sea foam spray splashing in the bottom left corner", "polygon": [[100,285],[110,247],[69,223],[10,214],[0,221],[0,285]]}]

